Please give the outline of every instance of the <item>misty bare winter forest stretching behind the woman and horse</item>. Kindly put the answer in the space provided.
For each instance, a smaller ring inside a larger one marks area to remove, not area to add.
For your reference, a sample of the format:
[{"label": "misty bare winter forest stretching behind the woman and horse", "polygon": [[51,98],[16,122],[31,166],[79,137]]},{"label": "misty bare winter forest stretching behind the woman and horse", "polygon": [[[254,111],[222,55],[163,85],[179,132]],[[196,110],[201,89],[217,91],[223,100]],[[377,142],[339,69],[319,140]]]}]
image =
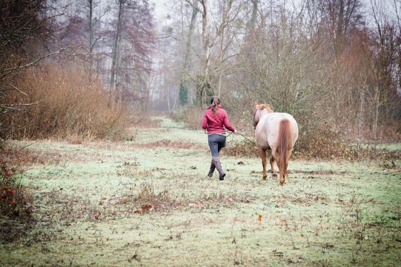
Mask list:
[{"label": "misty bare winter forest stretching behind the woman and horse", "polygon": [[399,138],[399,1],[175,1],[165,18],[155,5],[3,1],[2,144],[123,138],[127,116],[155,111],[196,128],[212,95],[242,122],[258,101],[308,135]]}]

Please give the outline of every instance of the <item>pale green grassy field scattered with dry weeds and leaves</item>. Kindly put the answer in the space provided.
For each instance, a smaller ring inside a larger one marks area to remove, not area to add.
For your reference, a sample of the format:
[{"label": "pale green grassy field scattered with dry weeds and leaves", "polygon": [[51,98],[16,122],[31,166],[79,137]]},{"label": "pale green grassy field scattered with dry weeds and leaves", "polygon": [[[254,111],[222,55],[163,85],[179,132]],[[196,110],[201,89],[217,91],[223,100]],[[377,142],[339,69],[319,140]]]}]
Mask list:
[{"label": "pale green grassy field scattered with dry weeds and leaves", "polygon": [[42,162],[20,174],[32,222],[0,218],[0,265],[401,262],[401,162],[291,160],[279,187],[259,158],[223,156],[219,181],[206,178],[202,131],[160,126],[126,142],[29,146]]}]

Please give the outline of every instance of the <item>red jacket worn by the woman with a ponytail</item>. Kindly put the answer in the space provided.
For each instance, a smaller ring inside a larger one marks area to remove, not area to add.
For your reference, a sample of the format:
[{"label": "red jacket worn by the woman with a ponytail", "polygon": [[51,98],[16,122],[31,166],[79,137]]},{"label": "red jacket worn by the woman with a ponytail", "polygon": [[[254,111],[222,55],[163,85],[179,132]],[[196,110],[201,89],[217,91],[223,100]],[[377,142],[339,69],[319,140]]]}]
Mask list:
[{"label": "red jacket worn by the woman with a ponytail", "polygon": [[204,119],[202,121],[202,128],[209,128],[208,134],[224,133],[225,130],[223,126],[234,132],[235,128],[230,124],[229,118],[227,117],[227,112],[220,105],[217,105],[217,108],[216,116],[213,113],[212,106],[205,111]]}]

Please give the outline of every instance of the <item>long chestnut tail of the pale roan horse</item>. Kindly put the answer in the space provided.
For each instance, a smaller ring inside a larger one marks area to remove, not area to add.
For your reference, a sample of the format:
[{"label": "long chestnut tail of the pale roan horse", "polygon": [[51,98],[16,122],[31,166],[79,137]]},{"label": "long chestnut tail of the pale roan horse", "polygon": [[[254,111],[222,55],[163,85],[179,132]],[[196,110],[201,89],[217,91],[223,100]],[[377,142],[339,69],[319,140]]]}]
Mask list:
[{"label": "long chestnut tail of the pale roan horse", "polygon": [[283,119],[279,124],[279,138],[278,146],[276,149],[277,165],[280,173],[284,176],[287,175],[287,155],[291,151],[291,134],[290,134],[290,121]]}]

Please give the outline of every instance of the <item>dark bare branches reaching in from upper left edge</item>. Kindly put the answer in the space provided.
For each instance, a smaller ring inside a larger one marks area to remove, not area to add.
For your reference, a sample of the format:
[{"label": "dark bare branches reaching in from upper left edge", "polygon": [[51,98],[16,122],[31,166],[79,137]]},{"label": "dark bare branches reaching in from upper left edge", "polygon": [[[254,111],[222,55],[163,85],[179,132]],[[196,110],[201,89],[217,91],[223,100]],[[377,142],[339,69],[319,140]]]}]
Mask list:
[{"label": "dark bare branches reaching in from upper left edge", "polygon": [[20,88],[18,79],[50,56],[75,54],[70,47],[47,46],[54,33],[63,29],[56,21],[62,15],[62,10],[46,1],[5,0],[0,6],[0,147],[19,127],[9,128],[4,122],[36,104],[19,101],[19,96],[28,96],[29,88]]}]

